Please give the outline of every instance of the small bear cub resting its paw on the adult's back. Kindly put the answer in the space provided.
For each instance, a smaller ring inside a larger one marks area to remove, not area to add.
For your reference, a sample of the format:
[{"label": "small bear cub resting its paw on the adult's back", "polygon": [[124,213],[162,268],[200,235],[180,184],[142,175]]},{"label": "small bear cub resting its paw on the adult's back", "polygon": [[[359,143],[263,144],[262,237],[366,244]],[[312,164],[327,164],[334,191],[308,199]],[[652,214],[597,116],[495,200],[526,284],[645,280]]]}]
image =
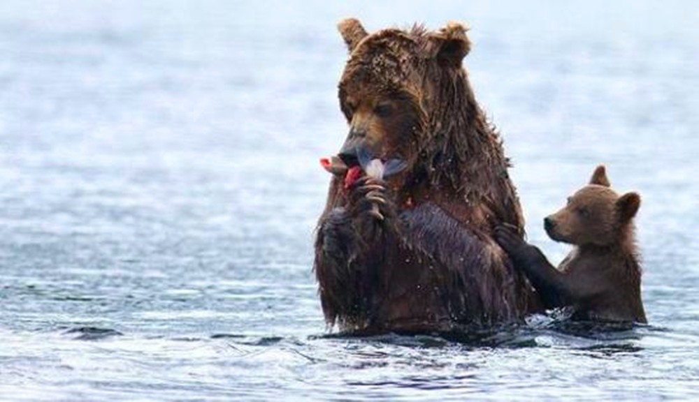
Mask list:
[{"label": "small bear cub resting its paw on the adult's back", "polygon": [[640,202],[637,193],[612,191],[600,165],[587,186],[544,219],[549,237],[575,246],[558,269],[508,226],[496,228],[496,240],[546,308],[572,306],[574,320],[645,323],[633,227]]}]

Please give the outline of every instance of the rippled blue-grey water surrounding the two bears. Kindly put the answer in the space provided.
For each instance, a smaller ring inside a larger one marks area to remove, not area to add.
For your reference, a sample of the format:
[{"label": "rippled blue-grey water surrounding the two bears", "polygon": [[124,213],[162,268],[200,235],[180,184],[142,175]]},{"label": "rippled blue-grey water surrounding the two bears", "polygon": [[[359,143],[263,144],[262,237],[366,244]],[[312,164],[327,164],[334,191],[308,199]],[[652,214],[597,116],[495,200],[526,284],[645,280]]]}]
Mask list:
[{"label": "rippled blue-grey water surrounding the two bears", "polygon": [[[326,336],[312,240],[335,30],[468,22],[529,238],[606,163],[649,326]],[[3,1],[0,399],[699,398],[692,1]]]}]

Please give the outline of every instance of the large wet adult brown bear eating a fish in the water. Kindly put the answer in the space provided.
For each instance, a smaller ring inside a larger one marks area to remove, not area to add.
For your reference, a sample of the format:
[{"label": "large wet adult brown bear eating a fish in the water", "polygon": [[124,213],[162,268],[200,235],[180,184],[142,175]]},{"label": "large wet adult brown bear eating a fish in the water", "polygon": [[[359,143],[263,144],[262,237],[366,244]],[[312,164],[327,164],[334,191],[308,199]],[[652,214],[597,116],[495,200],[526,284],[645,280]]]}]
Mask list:
[{"label": "large wet adult brown bear eating a fish in the water", "polygon": [[[521,320],[541,308],[493,241],[524,222],[501,141],[461,67],[466,29],[338,25],[349,135],[338,154],[408,168],[386,181],[336,170],[319,220],[315,273],[326,321],[347,332],[433,332]],[[340,160],[336,158],[336,160]]]}]

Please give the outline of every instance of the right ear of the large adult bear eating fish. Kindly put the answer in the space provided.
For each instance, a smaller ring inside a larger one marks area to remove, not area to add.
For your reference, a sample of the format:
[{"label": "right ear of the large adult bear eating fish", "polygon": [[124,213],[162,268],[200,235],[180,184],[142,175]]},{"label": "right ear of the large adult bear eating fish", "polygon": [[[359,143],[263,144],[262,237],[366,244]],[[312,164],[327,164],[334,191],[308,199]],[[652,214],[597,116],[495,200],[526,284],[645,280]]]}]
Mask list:
[{"label": "right ear of the large adult bear eating fish", "polygon": [[468,27],[459,22],[449,22],[436,34],[428,35],[426,52],[429,58],[436,58],[440,64],[461,68],[461,61],[471,50],[471,42],[466,36]]}]

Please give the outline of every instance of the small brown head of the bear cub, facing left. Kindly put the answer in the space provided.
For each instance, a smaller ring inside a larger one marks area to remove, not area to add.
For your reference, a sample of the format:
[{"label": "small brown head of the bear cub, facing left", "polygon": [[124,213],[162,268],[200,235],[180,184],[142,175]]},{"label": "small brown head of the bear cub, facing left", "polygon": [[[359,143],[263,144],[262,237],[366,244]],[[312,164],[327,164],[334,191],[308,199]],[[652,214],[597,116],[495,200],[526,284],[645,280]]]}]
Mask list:
[{"label": "small brown head of the bear cub, facing left", "polygon": [[544,219],[544,227],[556,241],[610,246],[624,241],[640,204],[637,193],[615,193],[605,167],[600,165],[587,186],[570,196],[560,211]]}]

